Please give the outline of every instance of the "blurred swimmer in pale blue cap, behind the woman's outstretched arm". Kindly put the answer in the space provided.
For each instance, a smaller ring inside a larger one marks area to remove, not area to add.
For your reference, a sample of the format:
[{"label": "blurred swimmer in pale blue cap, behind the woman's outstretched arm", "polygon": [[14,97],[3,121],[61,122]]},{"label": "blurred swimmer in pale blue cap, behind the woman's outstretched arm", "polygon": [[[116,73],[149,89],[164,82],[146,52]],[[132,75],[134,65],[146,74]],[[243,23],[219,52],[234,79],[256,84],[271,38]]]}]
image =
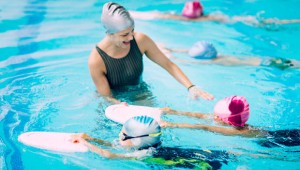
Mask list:
[{"label": "blurred swimmer in pale blue cap, behind the woman's outstretched arm", "polygon": [[[297,60],[285,59],[281,57],[250,57],[250,56],[230,56],[218,54],[212,43],[206,41],[196,42],[189,50],[170,49],[158,44],[162,52],[174,61],[191,64],[217,64],[223,66],[267,66],[275,67],[281,70],[300,68],[300,62]],[[172,53],[188,53],[194,60],[183,60],[175,58]]]}]

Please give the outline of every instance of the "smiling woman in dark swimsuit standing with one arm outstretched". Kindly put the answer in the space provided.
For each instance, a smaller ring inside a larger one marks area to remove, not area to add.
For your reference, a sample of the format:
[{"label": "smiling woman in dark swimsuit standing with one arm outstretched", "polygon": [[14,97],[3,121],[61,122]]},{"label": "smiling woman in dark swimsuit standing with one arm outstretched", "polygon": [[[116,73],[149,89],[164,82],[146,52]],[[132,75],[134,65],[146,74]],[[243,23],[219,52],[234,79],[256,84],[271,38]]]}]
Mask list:
[{"label": "smiling woman in dark swimsuit standing with one arm outstretched", "polygon": [[159,50],[150,37],[134,31],[134,20],[123,6],[105,3],[101,23],[106,36],[92,49],[88,66],[98,93],[106,99],[119,103],[114,92],[126,87],[138,88],[143,83],[143,57],[146,55],[189,89],[193,98],[213,100],[213,95],[197,86],[189,88],[193,83],[182,70]]}]

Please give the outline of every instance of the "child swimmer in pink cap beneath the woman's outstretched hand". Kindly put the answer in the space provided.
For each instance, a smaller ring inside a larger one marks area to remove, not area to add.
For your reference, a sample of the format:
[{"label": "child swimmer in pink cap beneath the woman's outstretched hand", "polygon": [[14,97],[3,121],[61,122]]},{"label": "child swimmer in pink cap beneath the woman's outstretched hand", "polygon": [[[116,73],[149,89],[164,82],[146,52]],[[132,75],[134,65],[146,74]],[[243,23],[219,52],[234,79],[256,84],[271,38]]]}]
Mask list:
[{"label": "child swimmer in pink cap beneath the woman's outstretched hand", "polygon": [[250,108],[246,98],[242,96],[230,96],[220,100],[215,105],[213,115],[196,112],[182,112],[170,108],[163,108],[162,112],[165,114],[184,115],[200,119],[213,118],[215,121],[224,125],[230,125],[233,128],[204,124],[191,125],[164,122],[164,126],[166,127],[202,129],[227,136],[260,138],[261,140],[258,143],[264,147],[300,146],[299,128],[267,131],[246,124],[250,115]]}]

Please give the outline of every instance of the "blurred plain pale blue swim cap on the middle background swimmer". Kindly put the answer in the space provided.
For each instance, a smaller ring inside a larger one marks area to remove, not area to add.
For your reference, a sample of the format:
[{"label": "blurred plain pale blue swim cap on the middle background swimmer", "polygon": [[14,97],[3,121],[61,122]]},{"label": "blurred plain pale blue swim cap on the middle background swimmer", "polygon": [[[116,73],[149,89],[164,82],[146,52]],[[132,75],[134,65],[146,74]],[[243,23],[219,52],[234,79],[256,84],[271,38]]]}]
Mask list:
[{"label": "blurred plain pale blue swim cap on the middle background swimmer", "polygon": [[189,49],[188,54],[196,59],[213,59],[217,57],[217,50],[210,42],[198,41]]}]

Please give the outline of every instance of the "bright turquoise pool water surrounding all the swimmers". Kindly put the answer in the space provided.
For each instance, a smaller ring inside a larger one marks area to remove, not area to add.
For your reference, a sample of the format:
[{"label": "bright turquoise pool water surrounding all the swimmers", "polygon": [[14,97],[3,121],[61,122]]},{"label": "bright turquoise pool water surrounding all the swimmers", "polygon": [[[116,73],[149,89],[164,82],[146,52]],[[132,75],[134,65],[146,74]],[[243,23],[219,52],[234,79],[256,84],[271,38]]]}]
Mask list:
[{"label": "bright turquoise pool water surrounding all the swimmers", "polygon": [[[185,1],[116,2],[130,10],[180,12]],[[151,168],[140,161],[107,160],[93,153],[57,154],[25,147],[17,141],[18,135],[27,131],[86,132],[110,141],[117,137],[120,126],[105,119],[107,103],[95,93],[87,67],[91,48],[104,36],[99,22],[103,3],[92,0],[0,2],[1,169]],[[272,3],[267,0],[206,0],[202,3],[208,13],[221,11],[231,16],[255,16],[264,11],[266,18],[300,18],[297,0],[274,0]],[[297,60],[300,60],[299,28],[299,24],[263,29],[242,23],[136,20],[136,31],[150,35],[167,47],[189,48],[198,40],[208,40],[223,54],[280,56]],[[145,60],[143,79],[150,86],[153,97],[149,103],[142,104],[210,113],[216,101],[237,94],[247,97],[251,105],[249,124],[270,130],[299,127],[299,70],[178,65],[195,84],[214,94],[216,99],[213,102],[188,100],[186,89],[158,66]],[[140,104],[139,101],[132,103]],[[196,122],[181,117],[169,119]],[[254,139],[178,129],[166,130],[163,144],[248,154],[267,152],[282,159],[298,160],[300,149],[299,146],[263,148]],[[242,155],[223,165],[222,169],[297,169],[299,165],[299,161]]]}]

